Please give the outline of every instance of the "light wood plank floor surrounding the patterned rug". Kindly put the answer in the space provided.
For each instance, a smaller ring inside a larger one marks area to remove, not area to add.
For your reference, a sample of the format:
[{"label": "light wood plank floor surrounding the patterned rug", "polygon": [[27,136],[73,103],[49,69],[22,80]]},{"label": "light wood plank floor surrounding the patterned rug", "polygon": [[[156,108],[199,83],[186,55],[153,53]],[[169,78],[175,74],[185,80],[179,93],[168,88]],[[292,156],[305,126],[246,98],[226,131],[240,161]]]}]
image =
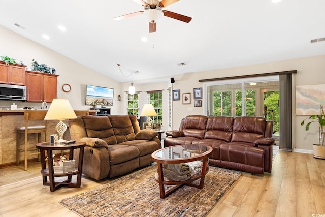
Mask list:
[{"label": "light wood plank floor surrounding the patterned rug", "polygon": [[[0,216],[77,216],[58,202],[110,180],[83,176],[79,189],[50,192],[42,178],[0,187]],[[312,216],[325,214],[325,160],[279,151],[272,173],[243,173],[208,216]]]}]

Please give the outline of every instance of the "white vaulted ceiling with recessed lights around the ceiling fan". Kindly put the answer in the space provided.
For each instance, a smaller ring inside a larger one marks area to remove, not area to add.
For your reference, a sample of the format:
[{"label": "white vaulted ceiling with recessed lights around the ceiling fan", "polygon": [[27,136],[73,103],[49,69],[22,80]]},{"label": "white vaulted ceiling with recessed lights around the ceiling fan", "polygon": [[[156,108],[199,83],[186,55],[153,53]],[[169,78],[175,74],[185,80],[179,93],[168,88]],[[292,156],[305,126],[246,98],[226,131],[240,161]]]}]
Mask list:
[{"label": "white vaulted ceiling with recessed lights around the ceiling fan", "polygon": [[324,9],[324,0],[180,0],[164,10],[192,20],[161,17],[152,36],[144,15],[113,20],[143,10],[133,0],[0,0],[0,25],[119,82],[130,78],[117,64],[125,75],[139,71],[133,79],[141,83],[323,55],[325,41],[310,40],[325,37]]}]

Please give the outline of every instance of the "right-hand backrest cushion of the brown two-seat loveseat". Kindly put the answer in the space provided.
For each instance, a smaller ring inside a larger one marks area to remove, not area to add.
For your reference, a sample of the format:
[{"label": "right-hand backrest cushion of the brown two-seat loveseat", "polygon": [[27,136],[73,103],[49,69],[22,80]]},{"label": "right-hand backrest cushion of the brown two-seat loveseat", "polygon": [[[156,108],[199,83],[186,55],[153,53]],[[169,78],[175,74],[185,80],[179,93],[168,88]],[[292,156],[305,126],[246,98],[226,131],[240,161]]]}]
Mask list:
[{"label": "right-hand backrest cushion of the brown two-seat loveseat", "polygon": [[109,118],[118,144],[136,139],[129,115],[110,115]]}]

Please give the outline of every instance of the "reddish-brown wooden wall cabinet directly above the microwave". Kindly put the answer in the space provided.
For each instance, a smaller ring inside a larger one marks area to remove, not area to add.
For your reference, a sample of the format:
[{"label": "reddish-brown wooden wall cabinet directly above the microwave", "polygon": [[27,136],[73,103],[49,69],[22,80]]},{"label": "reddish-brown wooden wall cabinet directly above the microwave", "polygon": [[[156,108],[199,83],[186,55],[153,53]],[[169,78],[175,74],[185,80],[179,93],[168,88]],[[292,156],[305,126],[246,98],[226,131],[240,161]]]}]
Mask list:
[{"label": "reddish-brown wooden wall cabinet directly above the microwave", "polygon": [[25,65],[15,64],[6,65],[0,61],[0,83],[26,85]]}]

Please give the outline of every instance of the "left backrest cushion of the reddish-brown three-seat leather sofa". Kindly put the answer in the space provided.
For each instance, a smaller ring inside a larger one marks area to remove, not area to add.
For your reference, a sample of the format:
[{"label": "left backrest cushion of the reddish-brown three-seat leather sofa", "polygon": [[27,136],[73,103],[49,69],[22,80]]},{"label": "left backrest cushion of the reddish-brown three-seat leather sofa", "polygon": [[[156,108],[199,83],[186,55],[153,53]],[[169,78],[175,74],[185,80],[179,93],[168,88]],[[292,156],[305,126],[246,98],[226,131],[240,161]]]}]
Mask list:
[{"label": "left backrest cushion of the reddish-brown three-seat leather sofa", "polygon": [[203,139],[207,119],[208,117],[203,115],[190,115],[185,117],[182,126],[184,136]]}]

